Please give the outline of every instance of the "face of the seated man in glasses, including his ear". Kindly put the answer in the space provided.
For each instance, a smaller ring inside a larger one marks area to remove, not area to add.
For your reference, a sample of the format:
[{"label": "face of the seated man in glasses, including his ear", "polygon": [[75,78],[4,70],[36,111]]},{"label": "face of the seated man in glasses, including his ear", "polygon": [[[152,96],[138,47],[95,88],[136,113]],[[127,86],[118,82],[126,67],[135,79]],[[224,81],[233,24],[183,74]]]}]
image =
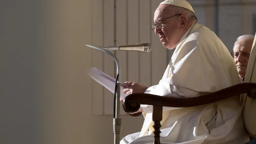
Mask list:
[{"label": "face of the seated man in glasses, including his ear", "polygon": [[176,47],[181,37],[184,35],[184,29],[188,23],[188,19],[185,15],[176,14],[179,13],[173,12],[167,4],[160,4],[154,14],[154,23],[156,23],[156,20],[159,20],[162,24],[162,28],[155,28],[155,33],[159,35],[160,41],[167,49]]}]

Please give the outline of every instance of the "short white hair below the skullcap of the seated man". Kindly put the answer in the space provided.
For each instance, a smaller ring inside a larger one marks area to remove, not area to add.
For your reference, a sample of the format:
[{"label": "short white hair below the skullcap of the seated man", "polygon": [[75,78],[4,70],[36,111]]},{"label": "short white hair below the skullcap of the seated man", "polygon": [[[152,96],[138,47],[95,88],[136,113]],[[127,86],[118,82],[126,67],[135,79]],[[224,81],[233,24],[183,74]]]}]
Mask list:
[{"label": "short white hair below the skullcap of the seated man", "polygon": [[179,6],[174,6],[170,5],[170,8],[172,12],[177,12],[177,14],[184,14],[188,18],[188,22],[197,22],[197,17],[194,12],[190,11],[189,9],[179,7]]}]

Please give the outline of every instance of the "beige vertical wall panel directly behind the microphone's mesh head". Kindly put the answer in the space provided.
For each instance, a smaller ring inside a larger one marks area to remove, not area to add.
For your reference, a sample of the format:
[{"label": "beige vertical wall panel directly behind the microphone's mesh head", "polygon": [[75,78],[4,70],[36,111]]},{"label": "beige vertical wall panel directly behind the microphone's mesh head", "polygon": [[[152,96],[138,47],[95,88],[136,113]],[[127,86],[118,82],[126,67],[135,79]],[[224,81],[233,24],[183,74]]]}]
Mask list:
[{"label": "beige vertical wall panel directly behind the microphone's mesh head", "polygon": [[[150,1],[148,0],[139,0],[139,32],[140,32],[140,43],[150,43],[150,33],[153,33],[151,30],[151,12],[150,12]],[[152,52],[152,51],[151,51]],[[139,82],[150,86],[150,53],[151,52],[140,52],[139,53]]]}]

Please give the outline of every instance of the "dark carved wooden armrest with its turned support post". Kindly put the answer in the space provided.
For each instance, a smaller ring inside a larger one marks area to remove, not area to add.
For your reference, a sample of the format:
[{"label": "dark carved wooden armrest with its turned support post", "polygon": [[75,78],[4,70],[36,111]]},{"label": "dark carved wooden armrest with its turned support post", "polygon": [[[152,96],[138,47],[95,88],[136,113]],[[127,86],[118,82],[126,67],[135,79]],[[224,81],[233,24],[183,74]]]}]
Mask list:
[{"label": "dark carved wooden armrest with its turned support post", "polygon": [[[152,121],[154,121],[154,144],[160,144],[160,121],[162,120],[163,107],[195,107],[225,100],[233,96],[247,93],[248,97],[256,99],[256,84],[242,83],[222,89],[210,94],[193,98],[171,98],[153,94],[133,93],[124,98],[123,108],[127,113],[133,113],[140,109],[140,105],[153,105]],[[141,114],[141,112],[140,112]],[[137,115],[140,115],[137,114]],[[131,116],[137,116],[133,114]]]}]

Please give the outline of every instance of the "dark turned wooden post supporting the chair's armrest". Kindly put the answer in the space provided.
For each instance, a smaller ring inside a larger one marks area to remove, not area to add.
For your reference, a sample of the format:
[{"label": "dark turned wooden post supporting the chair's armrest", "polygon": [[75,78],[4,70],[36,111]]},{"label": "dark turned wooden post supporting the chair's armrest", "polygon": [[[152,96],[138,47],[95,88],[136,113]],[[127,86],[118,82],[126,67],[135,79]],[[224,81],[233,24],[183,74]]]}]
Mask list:
[{"label": "dark turned wooden post supporting the chair's armrest", "polygon": [[161,106],[153,106],[153,114],[152,114],[152,121],[154,121],[153,128],[154,128],[154,144],[160,144],[160,128],[163,116],[163,107]]}]

